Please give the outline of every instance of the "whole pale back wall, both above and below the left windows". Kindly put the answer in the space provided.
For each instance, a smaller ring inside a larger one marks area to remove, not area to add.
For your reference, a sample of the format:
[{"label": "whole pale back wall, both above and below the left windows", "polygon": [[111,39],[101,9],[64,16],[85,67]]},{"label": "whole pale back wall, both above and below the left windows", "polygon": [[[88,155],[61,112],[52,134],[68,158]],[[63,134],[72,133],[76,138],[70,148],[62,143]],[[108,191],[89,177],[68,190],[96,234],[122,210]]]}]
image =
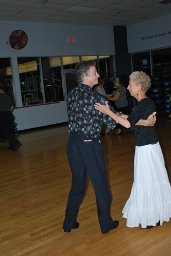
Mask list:
[{"label": "whole pale back wall, both above and below the left windows", "polygon": [[[15,50],[6,45],[14,30],[23,30],[28,36],[24,49]],[[22,107],[18,57],[114,55],[113,27],[64,25],[53,23],[0,21],[0,58],[11,58],[14,110],[18,130],[67,122],[66,102]],[[75,43],[68,43],[75,37]]]}]

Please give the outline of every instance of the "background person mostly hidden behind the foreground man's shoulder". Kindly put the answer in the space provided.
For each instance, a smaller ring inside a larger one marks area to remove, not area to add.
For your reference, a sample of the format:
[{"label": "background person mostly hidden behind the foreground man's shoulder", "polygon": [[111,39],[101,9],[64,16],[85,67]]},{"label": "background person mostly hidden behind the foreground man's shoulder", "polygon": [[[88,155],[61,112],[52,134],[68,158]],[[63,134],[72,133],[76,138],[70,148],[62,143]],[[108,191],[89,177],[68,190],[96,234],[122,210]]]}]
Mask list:
[{"label": "background person mostly hidden behind the foreground man's shoulder", "polygon": [[[98,78],[98,84],[93,90],[93,92],[99,96],[102,96],[104,99],[107,99],[108,97],[112,97],[112,94],[106,94],[106,91],[104,89],[104,80],[102,77]],[[113,134],[113,132],[110,132],[110,127],[107,127],[104,123],[102,124],[102,131],[100,133],[101,135],[106,135],[106,134]]]}]

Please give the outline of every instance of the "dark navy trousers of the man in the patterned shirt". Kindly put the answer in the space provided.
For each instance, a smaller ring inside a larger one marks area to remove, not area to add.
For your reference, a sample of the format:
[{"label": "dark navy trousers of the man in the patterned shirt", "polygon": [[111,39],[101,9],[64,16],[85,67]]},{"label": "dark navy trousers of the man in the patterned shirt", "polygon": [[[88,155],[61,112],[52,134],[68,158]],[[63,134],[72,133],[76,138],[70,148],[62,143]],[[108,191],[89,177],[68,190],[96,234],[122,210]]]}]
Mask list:
[{"label": "dark navy trousers of the man in the patterned shirt", "polygon": [[85,195],[88,172],[95,190],[100,227],[103,234],[108,233],[113,226],[113,220],[110,216],[111,195],[107,181],[103,144],[99,138],[70,134],[67,154],[72,171],[72,187],[69,192],[63,228],[71,229],[76,222],[79,206]]}]

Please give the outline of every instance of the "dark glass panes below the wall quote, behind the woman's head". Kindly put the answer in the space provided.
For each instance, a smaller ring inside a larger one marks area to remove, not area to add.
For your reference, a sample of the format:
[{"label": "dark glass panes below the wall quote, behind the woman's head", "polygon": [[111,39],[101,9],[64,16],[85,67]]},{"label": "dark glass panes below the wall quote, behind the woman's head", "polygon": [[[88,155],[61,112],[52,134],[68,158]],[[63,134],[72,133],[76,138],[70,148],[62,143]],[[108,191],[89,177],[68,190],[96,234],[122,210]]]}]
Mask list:
[{"label": "dark glass panes below the wall quote, behind the woman's head", "polygon": [[[168,116],[171,92],[171,48],[132,54],[132,71],[144,71],[151,77],[146,93],[156,105],[157,116]],[[151,70],[152,67],[152,70]]]}]

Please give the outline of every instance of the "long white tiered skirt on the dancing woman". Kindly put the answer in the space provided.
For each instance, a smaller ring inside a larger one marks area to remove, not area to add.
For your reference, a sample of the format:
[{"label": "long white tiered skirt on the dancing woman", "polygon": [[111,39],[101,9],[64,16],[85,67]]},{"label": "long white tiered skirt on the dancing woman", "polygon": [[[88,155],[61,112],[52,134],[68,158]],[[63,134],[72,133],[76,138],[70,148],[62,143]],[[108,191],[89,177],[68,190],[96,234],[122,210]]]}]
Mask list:
[{"label": "long white tiered skirt on the dancing woman", "polygon": [[171,186],[159,143],[135,147],[134,183],[123,214],[128,227],[169,222]]}]

